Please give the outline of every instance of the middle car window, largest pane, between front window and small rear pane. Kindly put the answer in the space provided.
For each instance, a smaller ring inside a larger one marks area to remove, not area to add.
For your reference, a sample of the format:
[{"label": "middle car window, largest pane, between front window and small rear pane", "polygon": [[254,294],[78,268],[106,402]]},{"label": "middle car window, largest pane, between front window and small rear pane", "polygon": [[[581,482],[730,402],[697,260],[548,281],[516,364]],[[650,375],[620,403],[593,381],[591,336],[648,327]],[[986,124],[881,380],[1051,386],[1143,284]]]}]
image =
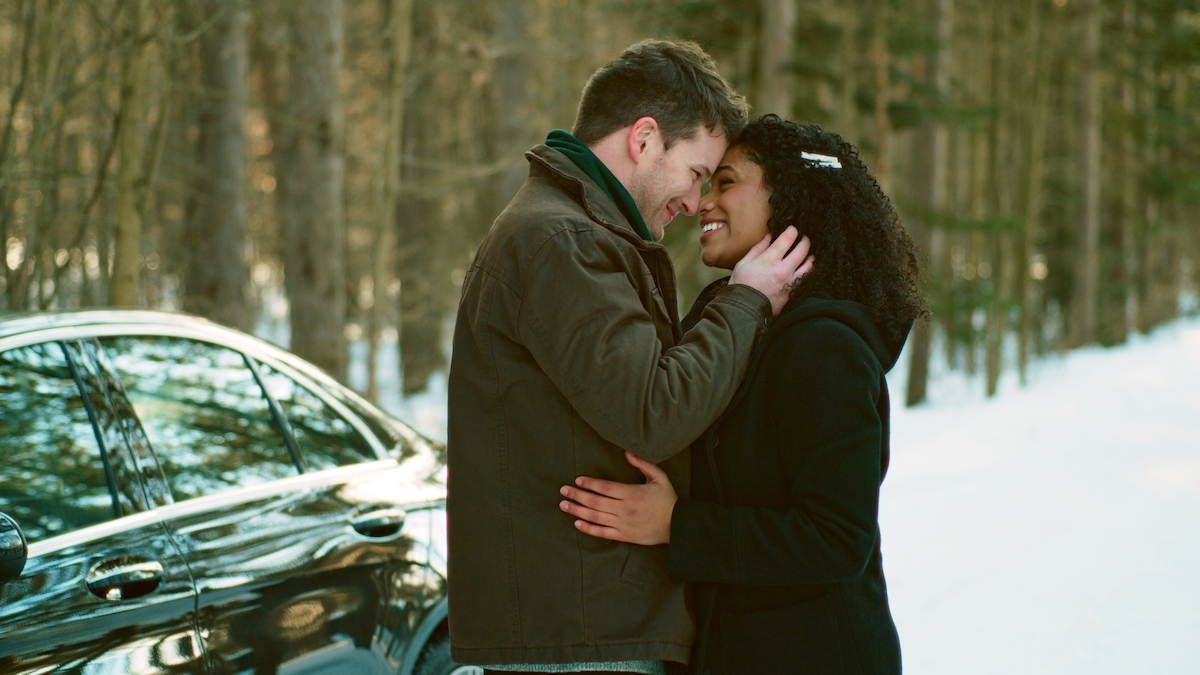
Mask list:
[{"label": "middle car window, largest pane, between front window and small rear pane", "polygon": [[176,501],[298,473],[240,353],[181,338],[101,342]]}]

